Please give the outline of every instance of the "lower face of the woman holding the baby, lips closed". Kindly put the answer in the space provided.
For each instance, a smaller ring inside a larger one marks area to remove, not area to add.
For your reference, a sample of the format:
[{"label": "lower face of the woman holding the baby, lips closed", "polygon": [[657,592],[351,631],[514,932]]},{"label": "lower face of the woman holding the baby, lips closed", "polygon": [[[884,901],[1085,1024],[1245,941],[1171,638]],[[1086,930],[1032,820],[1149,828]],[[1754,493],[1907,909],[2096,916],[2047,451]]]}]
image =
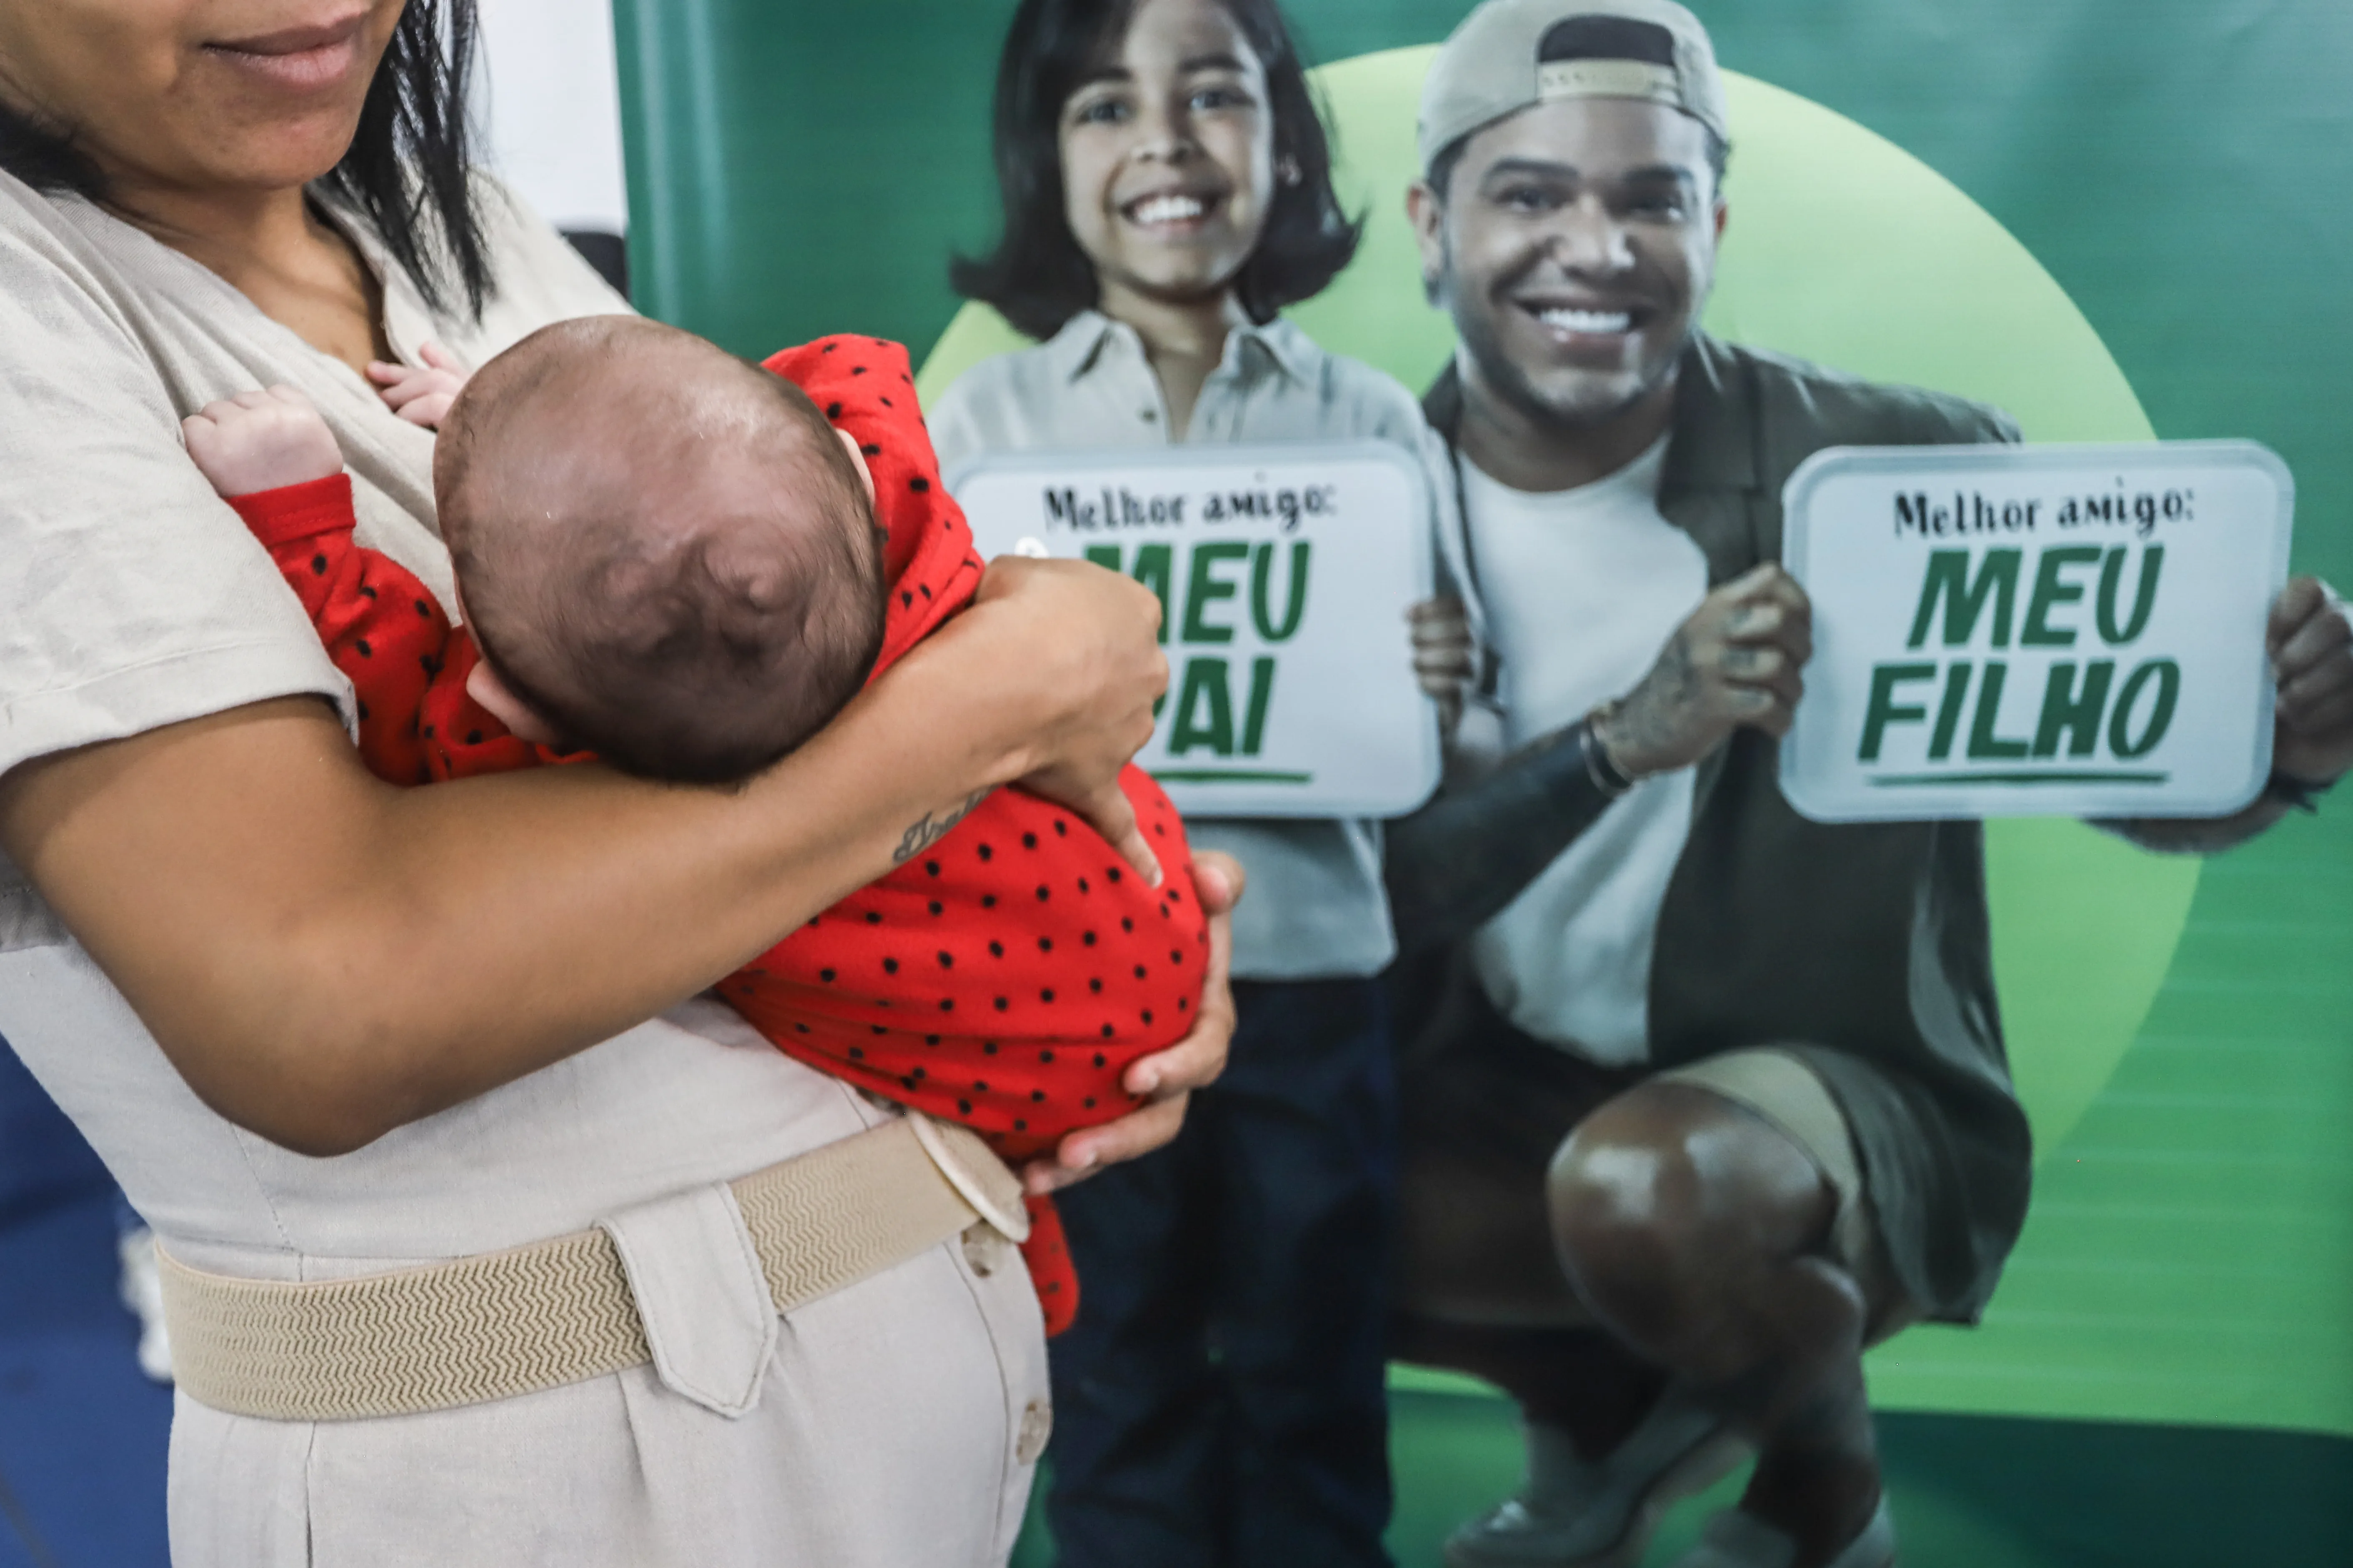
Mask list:
[{"label": "lower face of the woman holding the baby, lips closed", "polygon": [[405,0],[12,0],[0,99],[108,179],[282,190],[332,169]]}]

